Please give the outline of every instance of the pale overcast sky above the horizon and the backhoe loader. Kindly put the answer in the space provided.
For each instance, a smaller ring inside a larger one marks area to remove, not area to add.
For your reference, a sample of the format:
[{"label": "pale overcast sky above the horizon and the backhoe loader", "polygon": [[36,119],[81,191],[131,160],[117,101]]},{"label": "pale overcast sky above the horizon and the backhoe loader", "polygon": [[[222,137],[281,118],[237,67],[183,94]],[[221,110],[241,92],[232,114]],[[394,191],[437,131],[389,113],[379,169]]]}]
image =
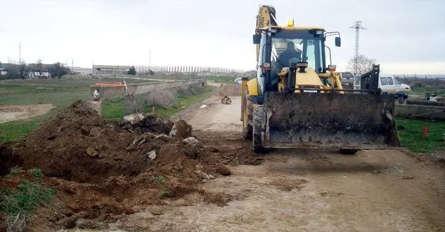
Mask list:
[{"label": "pale overcast sky above the horizon and the backhoe loader", "polygon": [[0,0],[0,61],[74,66],[95,64],[220,66],[254,69],[252,44],[260,4],[275,6],[280,25],[340,32],[328,39],[333,64],[343,71],[354,55],[361,20],[360,53],[383,73],[445,73],[445,0]]}]

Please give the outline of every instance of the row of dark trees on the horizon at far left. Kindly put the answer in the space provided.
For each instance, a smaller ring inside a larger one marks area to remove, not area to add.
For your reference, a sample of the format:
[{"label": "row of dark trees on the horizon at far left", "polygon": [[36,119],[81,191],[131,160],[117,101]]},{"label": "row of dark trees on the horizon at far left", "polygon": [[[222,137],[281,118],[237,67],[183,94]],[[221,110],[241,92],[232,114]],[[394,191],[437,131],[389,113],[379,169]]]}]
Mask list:
[{"label": "row of dark trees on the horizon at far left", "polygon": [[[1,63],[0,63],[1,66]],[[37,63],[26,63],[20,61],[19,63],[8,63],[3,68],[8,70],[6,78],[28,78],[30,76],[37,78],[47,78],[44,73],[49,73],[51,78],[61,79],[62,76],[71,73],[71,69],[64,63],[56,62],[53,64],[44,64],[41,60]]]}]

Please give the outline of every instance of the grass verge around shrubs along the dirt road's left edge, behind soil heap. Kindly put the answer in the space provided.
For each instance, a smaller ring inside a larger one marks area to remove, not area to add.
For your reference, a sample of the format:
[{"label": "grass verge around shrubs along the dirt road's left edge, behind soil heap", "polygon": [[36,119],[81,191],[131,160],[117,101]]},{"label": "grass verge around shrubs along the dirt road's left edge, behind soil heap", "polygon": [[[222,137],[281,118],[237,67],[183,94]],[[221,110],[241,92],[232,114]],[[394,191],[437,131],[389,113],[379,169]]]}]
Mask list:
[{"label": "grass verge around shrubs along the dirt road's left edge, behind soil heap", "polygon": [[[202,102],[205,99],[208,99],[211,95],[215,87],[202,87],[196,89],[194,92],[186,93],[186,94],[177,94],[177,106],[173,107],[161,107],[155,106],[155,112],[157,114],[163,116],[171,116],[176,114],[179,111],[182,111],[184,108],[188,108],[191,104],[195,104],[198,102]],[[124,104],[126,102],[125,97],[115,97],[112,99],[106,99],[102,103],[102,115],[107,118],[114,118],[117,120],[121,120],[124,116]],[[137,97],[136,102],[141,102],[138,104],[139,110],[143,112],[149,113],[152,110],[153,105],[148,105],[143,103],[143,97]],[[183,108],[184,107],[184,108]]]}]

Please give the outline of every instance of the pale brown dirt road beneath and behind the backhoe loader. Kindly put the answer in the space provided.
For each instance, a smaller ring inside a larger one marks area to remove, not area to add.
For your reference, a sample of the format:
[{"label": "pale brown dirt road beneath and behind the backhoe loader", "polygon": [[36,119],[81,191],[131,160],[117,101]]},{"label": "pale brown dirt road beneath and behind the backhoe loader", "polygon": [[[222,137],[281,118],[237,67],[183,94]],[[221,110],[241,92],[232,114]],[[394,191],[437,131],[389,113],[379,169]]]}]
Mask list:
[{"label": "pale brown dirt road beneath and behind the backhoe loader", "polygon": [[[207,102],[189,121],[215,144],[240,146],[240,99]],[[208,133],[205,133],[208,136]],[[220,138],[220,140],[218,140]],[[237,141],[237,142],[235,142]],[[241,146],[249,146],[241,142]],[[203,185],[226,206],[198,195],[148,207],[113,224],[128,231],[445,231],[444,169],[399,151],[280,151],[256,166]],[[190,204],[189,202],[194,202]]]}]

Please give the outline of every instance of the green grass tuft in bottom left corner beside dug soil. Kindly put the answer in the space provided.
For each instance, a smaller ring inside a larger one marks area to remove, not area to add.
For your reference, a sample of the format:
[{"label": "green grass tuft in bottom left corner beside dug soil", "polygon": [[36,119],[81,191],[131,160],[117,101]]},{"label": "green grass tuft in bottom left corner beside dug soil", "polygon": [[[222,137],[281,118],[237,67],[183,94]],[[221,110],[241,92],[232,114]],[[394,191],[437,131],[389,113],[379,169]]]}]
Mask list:
[{"label": "green grass tuft in bottom left corner beside dug soil", "polygon": [[30,173],[36,178],[34,181],[20,180],[16,189],[4,188],[0,192],[0,212],[11,216],[17,214],[31,214],[40,204],[52,202],[57,193],[56,188],[43,188],[40,183],[42,171],[31,169]]}]

